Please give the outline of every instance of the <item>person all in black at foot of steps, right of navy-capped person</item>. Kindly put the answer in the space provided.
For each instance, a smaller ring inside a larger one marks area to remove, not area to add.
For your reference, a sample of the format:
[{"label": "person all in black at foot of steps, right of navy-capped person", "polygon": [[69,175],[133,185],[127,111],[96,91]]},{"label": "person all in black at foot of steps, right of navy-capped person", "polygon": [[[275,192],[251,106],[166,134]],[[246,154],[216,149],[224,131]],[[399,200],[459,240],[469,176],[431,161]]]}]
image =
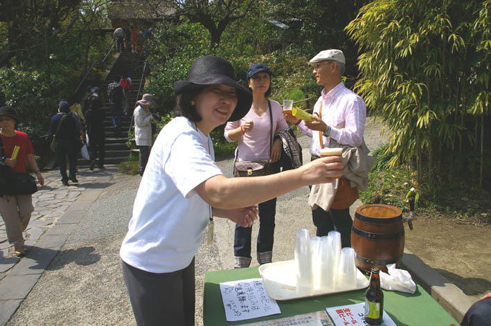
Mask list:
[{"label": "person all in black at foot of steps, right of navy-capped person", "polygon": [[93,171],[96,166],[96,156],[99,152],[98,167],[104,168],[105,161],[105,135],[104,135],[104,111],[101,110],[102,101],[99,96],[89,96],[87,101],[88,110],[85,112],[87,125],[87,145],[89,146],[90,165]]}]

